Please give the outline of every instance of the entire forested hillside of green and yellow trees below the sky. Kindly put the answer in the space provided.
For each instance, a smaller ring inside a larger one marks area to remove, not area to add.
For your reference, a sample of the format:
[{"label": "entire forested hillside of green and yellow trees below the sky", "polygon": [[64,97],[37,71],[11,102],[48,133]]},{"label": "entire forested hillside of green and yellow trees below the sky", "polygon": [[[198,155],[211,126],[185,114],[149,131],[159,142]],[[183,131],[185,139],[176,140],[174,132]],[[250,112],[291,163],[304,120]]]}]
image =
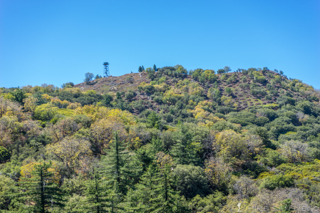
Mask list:
[{"label": "entire forested hillside of green and yellow trees below the sky", "polygon": [[267,67],[2,87],[0,212],[319,212],[319,98]]}]

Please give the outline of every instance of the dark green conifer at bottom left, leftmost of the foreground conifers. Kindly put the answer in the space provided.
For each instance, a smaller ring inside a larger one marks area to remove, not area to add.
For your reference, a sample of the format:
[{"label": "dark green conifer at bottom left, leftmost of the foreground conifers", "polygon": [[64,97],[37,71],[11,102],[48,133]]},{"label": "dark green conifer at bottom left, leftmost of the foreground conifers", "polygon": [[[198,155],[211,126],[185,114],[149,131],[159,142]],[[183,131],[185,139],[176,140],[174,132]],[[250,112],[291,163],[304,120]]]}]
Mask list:
[{"label": "dark green conifer at bottom left, leftmost of the foreground conifers", "polygon": [[50,172],[52,162],[35,164],[30,177],[20,179],[20,187],[29,203],[35,202],[33,212],[48,212],[48,208],[62,206],[62,194],[54,183],[53,173]]}]

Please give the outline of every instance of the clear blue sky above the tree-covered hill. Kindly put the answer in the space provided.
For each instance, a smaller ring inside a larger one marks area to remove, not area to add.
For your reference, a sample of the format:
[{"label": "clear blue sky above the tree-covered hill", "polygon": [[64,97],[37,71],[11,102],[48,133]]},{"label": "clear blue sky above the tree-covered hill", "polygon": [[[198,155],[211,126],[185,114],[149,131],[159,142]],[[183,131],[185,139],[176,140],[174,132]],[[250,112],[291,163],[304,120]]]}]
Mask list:
[{"label": "clear blue sky above the tree-covered hill", "polygon": [[85,72],[264,67],[320,88],[320,1],[0,0],[0,87]]}]

